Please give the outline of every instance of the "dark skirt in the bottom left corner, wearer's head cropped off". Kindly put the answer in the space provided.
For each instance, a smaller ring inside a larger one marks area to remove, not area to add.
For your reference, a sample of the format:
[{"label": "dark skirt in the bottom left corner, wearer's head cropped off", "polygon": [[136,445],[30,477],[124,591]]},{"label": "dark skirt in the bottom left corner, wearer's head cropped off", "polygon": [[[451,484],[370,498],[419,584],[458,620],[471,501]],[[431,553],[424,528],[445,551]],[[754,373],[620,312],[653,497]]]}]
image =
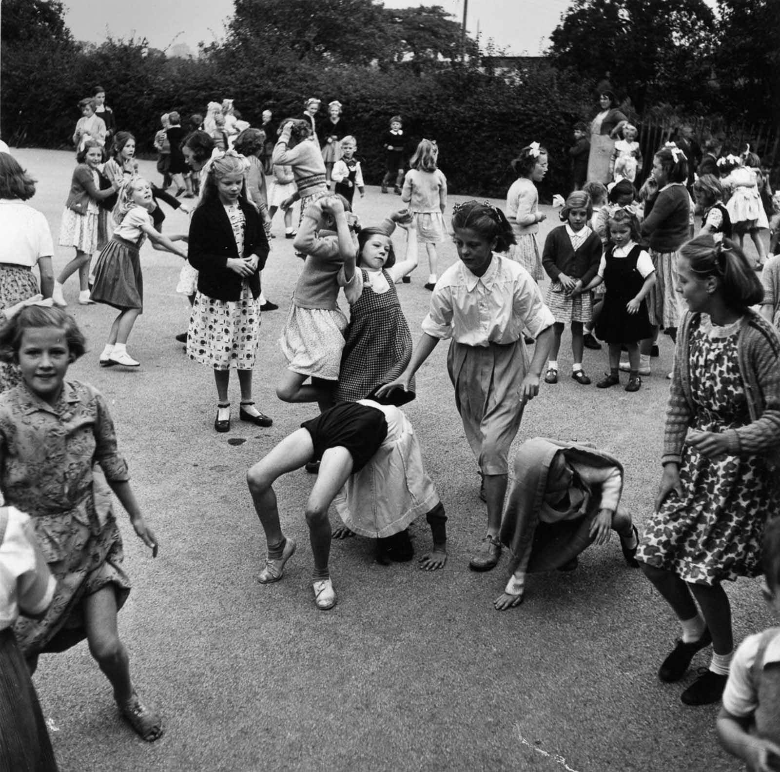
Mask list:
[{"label": "dark skirt in the bottom left corner, wearer's head cropped off", "polygon": [[57,772],[33,679],[9,628],[0,631],[0,772]]}]

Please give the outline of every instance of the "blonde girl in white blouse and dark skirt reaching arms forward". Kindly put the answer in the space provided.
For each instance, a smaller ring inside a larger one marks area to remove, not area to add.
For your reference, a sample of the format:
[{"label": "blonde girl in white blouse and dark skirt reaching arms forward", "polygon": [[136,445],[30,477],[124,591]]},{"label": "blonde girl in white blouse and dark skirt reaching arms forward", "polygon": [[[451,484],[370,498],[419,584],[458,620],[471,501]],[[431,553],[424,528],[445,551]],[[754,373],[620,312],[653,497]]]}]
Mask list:
[{"label": "blonde girl in white blouse and dark skirt reaching arms forward", "polygon": [[154,249],[178,254],[180,258],[187,256],[183,247],[177,246],[154,228],[151,218],[154,206],[151,185],[147,180],[133,177],[126,182],[113,212],[117,223],[114,235],[103,247],[95,263],[90,298],[95,303],[119,309],[98,360],[101,367],[140,365],[127,353],[127,339],[133,332],[136,319],[144,312],[144,276],[139,256],[144,240],[148,237]]}]

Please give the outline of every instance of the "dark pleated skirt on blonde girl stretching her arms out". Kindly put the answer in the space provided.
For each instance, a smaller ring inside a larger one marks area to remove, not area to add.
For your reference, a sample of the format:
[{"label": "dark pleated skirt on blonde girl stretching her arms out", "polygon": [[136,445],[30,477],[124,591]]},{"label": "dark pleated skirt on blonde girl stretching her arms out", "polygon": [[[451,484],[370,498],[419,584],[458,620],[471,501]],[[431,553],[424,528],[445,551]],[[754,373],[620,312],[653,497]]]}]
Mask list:
[{"label": "dark pleated skirt on blonde girl stretching her arms out", "polygon": [[127,311],[144,310],[144,276],[138,247],[119,236],[103,247],[94,267],[90,300]]}]

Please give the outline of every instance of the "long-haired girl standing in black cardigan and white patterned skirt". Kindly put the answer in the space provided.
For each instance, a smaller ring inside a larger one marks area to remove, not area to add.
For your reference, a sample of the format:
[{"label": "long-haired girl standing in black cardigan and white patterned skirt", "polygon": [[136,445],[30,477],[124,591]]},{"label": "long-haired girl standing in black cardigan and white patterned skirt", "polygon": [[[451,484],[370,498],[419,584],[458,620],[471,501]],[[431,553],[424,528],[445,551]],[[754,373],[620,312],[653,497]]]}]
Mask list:
[{"label": "long-haired girl standing in black cardigan and white patterned skirt", "polygon": [[230,429],[230,368],[239,373],[239,418],[272,421],[254,407],[252,368],[260,334],[260,272],[268,240],[246,197],[246,158],[228,151],[210,162],[203,197],[190,222],[188,259],[199,271],[187,333],[190,358],[214,369],[218,411],[214,428]]}]

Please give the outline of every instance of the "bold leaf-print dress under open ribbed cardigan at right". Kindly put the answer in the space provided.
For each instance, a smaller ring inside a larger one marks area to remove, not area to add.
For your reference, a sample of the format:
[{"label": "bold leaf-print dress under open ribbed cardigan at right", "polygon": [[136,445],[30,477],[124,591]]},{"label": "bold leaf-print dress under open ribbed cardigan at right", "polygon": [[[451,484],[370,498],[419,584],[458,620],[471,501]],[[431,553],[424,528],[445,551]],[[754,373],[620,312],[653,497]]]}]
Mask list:
[{"label": "bold leaf-print dress under open ribbed cardigan at right", "polygon": [[[690,336],[693,429],[726,432],[750,423],[739,373],[738,320],[712,325],[702,315]],[[686,582],[714,585],[761,574],[764,522],[776,511],[773,472],[761,456],[707,458],[683,448],[683,496],[670,494],[647,523],[637,560]]]}]

